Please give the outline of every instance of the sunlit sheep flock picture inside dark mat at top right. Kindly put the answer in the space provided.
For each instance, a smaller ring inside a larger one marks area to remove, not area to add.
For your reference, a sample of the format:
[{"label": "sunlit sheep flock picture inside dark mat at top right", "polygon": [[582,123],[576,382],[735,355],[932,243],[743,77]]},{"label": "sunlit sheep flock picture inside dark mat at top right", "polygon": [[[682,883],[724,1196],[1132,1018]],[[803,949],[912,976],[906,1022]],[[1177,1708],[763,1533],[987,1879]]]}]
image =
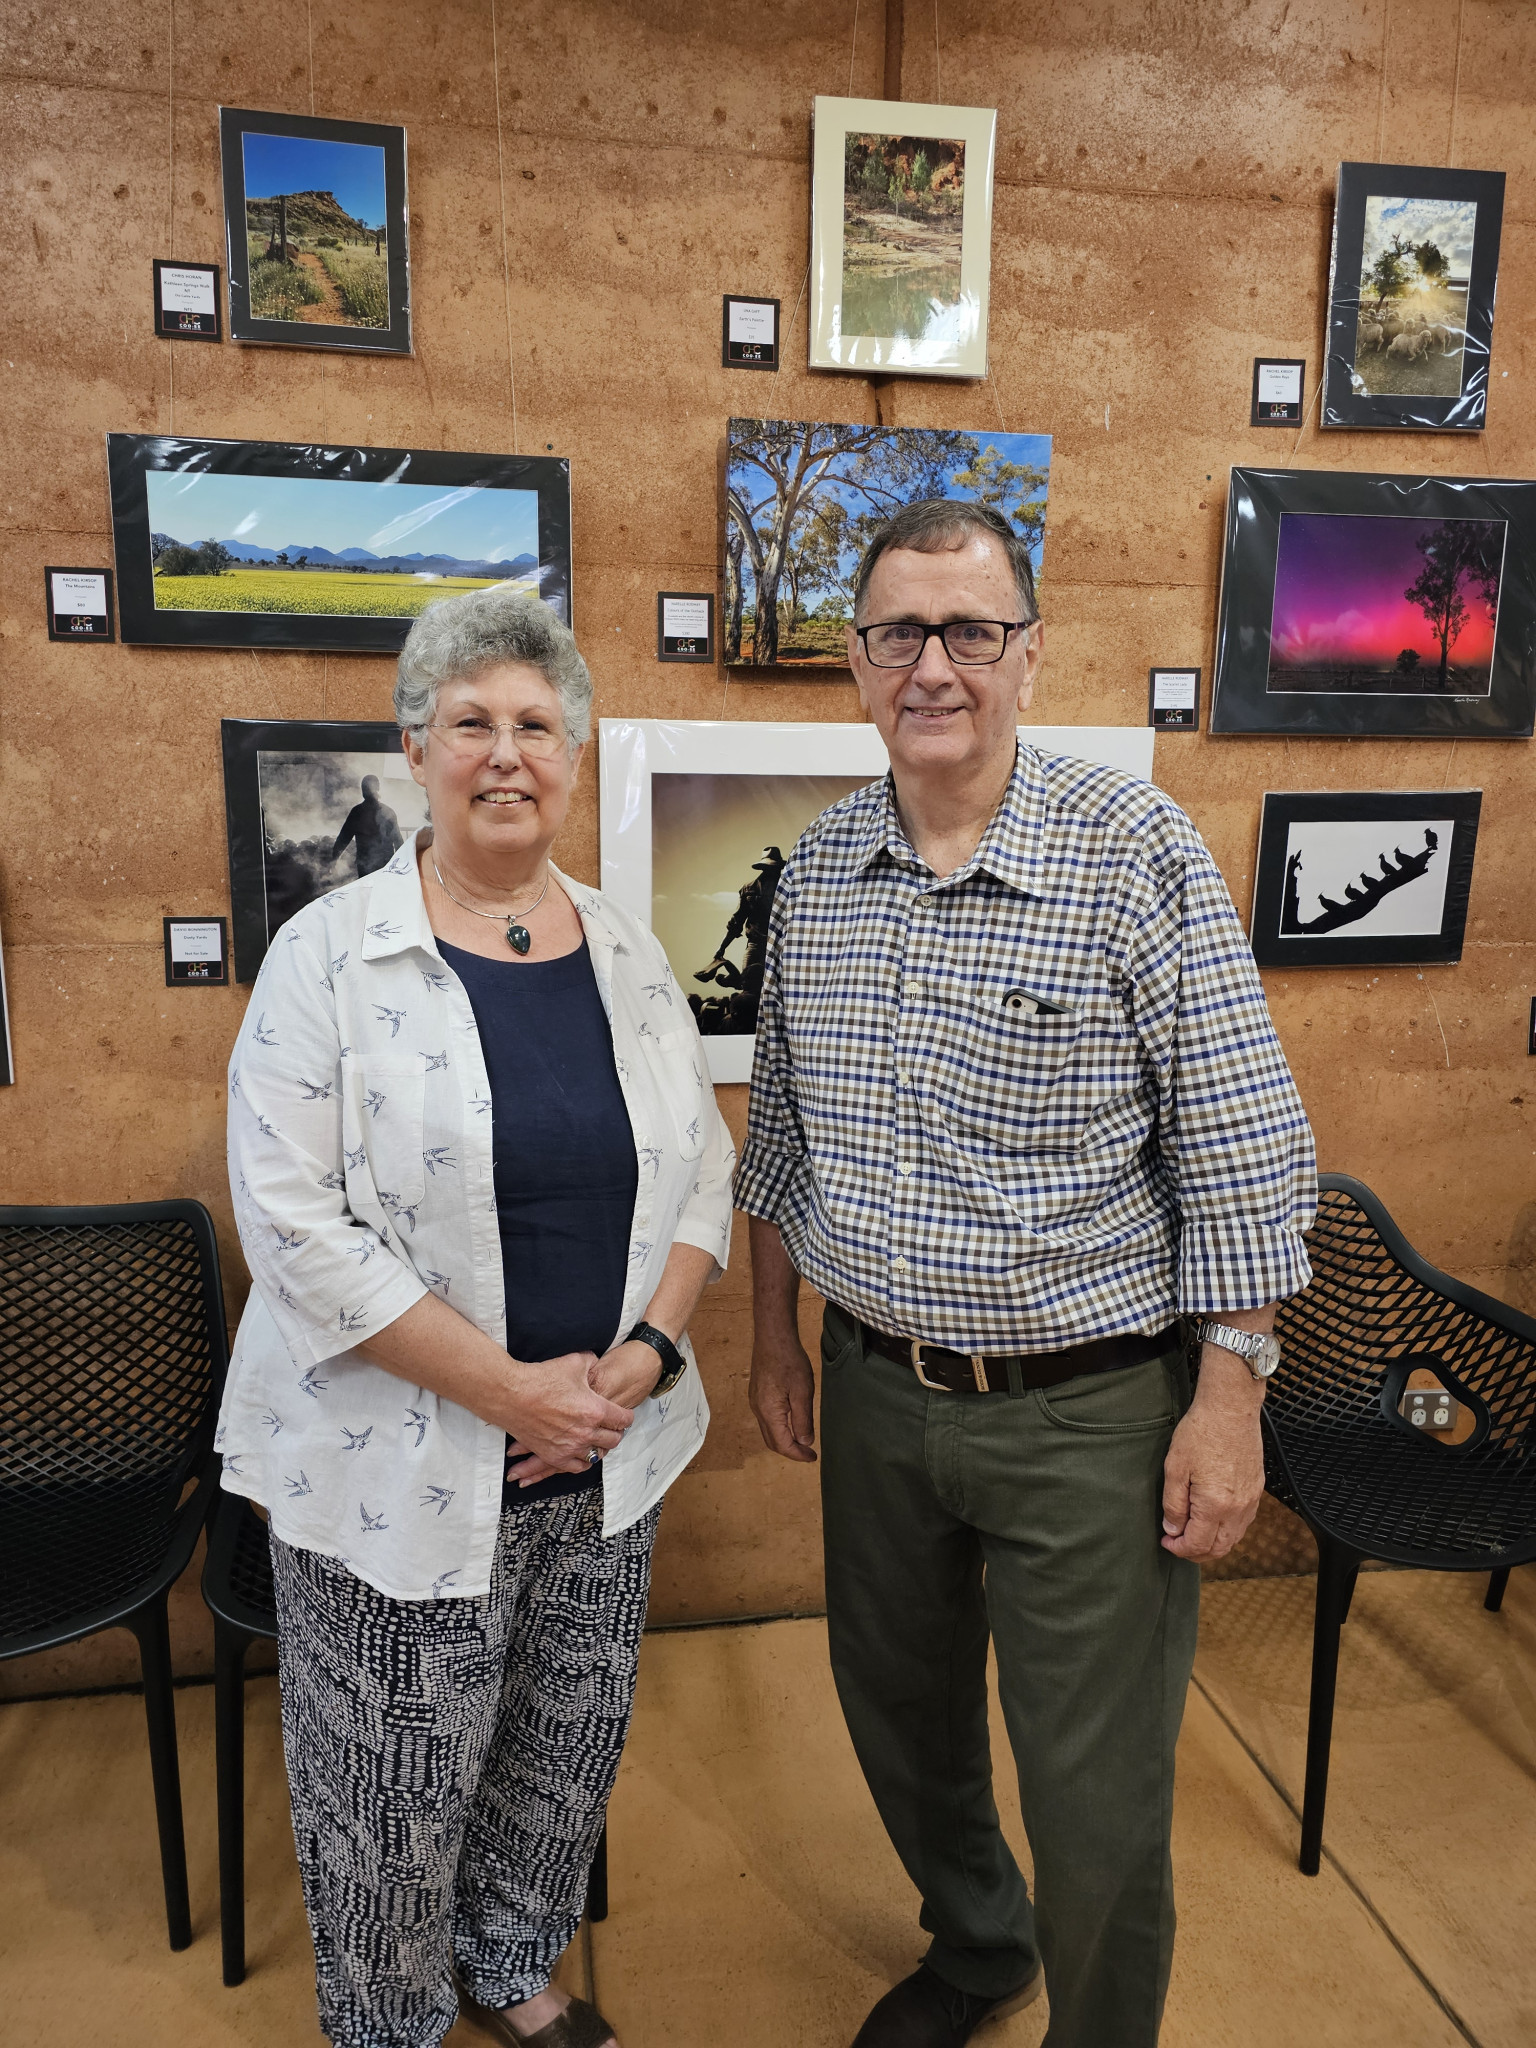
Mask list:
[{"label": "sunlit sheep flock picture inside dark mat at top right", "polygon": [[1370,397],[1456,397],[1477,203],[1366,199],[1354,387]]}]

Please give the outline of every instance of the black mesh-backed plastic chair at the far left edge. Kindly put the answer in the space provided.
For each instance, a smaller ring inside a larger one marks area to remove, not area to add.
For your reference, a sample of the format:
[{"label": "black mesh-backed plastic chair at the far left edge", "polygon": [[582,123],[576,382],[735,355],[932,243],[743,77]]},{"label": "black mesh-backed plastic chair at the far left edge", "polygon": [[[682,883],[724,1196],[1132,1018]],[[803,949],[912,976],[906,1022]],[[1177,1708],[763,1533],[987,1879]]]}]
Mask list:
[{"label": "black mesh-backed plastic chair at the far left edge", "polygon": [[213,1497],[225,1362],[201,1202],[0,1206],[0,1659],[137,1636],[172,1948],[193,1919],[166,1602]]}]

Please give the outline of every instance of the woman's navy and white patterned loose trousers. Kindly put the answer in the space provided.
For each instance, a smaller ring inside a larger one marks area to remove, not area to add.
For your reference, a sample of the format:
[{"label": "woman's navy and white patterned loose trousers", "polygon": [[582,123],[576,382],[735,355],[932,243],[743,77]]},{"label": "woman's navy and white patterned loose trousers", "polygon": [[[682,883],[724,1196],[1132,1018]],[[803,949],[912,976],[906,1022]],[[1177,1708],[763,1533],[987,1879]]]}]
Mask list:
[{"label": "woman's navy and white patterned loose trousers", "polygon": [[502,1513],[483,1599],[389,1599],[272,1538],[283,1751],[319,2023],[438,2048],[549,1985],[635,1700],[659,1507],[604,1542],[602,1493]]}]

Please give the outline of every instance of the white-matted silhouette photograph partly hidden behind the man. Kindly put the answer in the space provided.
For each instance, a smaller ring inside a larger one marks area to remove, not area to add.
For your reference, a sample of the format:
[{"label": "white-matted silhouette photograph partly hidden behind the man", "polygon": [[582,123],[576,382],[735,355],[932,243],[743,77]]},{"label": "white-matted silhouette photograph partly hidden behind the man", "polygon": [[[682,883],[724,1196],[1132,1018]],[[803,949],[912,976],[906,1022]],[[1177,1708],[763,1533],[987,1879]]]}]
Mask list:
[{"label": "white-matted silhouette photograph partly hidden behind the man", "polygon": [[[1151,780],[1143,725],[1026,725],[1020,739]],[[602,887],[666,946],[715,1081],[752,1079],[768,911],[795,840],[887,766],[872,725],[598,721]]]}]

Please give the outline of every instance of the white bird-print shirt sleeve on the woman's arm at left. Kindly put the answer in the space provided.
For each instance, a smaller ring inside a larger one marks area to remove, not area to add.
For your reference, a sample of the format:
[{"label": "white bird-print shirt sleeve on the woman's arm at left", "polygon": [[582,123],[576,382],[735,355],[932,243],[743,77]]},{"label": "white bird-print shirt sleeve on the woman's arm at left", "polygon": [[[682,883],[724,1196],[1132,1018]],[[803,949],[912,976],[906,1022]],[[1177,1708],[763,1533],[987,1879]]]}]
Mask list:
[{"label": "white bird-print shirt sleeve on the woman's arm at left", "polygon": [[346,1200],[342,1047],[330,975],[301,930],[268,950],[229,1059],[229,1188],[256,1288],[319,1364],[428,1292]]}]

